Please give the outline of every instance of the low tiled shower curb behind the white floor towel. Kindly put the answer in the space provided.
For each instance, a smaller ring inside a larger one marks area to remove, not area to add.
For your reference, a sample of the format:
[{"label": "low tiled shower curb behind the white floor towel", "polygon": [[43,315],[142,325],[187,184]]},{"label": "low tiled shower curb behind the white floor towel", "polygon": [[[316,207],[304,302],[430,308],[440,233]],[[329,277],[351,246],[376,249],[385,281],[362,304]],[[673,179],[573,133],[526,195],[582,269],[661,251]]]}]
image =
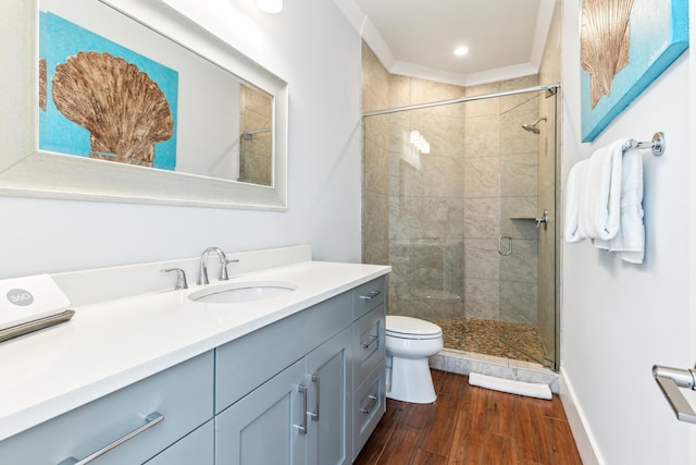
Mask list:
[{"label": "low tiled shower curb behind the white floor towel", "polygon": [[458,375],[468,376],[473,371],[515,381],[543,383],[548,384],[554,394],[559,391],[558,374],[530,362],[445,348],[430,357],[430,366]]}]

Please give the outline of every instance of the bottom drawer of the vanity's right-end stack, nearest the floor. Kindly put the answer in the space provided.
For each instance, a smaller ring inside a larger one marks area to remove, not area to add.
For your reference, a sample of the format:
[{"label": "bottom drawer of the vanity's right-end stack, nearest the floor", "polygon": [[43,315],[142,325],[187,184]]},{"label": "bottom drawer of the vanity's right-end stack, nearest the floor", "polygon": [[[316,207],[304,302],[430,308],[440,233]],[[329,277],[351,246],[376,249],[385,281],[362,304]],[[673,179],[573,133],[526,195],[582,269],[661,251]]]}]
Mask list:
[{"label": "bottom drawer of the vanity's right-end stack, nearest the floor", "polygon": [[385,363],[383,359],[382,363],[372,370],[368,379],[365,379],[365,381],[353,393],[353,461],[386,412],[386,391],[384,379]]}]

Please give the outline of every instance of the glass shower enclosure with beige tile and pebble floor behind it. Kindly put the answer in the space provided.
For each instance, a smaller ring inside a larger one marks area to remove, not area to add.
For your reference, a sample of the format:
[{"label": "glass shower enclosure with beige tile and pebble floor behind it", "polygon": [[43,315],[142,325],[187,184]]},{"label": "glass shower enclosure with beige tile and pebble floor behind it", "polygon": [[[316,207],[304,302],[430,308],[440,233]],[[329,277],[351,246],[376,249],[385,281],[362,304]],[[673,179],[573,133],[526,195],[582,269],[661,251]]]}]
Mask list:
[{"label": "glass shower enclosure with beige tile and pebble floor behind it", "polygon": [[364,114],[363,258],[448,350],[557,368],[556,90]]}]

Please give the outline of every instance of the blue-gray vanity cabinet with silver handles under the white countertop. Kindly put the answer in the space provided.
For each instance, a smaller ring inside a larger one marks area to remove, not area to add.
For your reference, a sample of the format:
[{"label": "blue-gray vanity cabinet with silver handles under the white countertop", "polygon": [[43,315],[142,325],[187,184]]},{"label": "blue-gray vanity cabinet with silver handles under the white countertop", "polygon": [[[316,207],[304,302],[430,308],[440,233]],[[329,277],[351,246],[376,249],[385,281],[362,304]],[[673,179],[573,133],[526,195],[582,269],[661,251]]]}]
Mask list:
[{"label": "blue-gray vanity cabinet with silver handles under the white countertop", "polygon": [[384,413],[384,282],[0,441],[0,464],[72,465],[112,444],[95,463],[349,464]]}]

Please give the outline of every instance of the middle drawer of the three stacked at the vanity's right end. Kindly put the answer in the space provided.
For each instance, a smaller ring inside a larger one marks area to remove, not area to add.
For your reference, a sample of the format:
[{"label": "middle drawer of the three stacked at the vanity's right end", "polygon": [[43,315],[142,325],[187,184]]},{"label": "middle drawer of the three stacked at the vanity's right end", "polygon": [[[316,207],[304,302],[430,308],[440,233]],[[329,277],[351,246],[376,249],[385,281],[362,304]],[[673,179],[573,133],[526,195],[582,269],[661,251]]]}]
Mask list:
[{"label": "middle drawer of the three stacked at the vanity's right end", "polygon": [[370,371],[386,356],[384,304],[352,326],[353,386],[360,386]]}]

